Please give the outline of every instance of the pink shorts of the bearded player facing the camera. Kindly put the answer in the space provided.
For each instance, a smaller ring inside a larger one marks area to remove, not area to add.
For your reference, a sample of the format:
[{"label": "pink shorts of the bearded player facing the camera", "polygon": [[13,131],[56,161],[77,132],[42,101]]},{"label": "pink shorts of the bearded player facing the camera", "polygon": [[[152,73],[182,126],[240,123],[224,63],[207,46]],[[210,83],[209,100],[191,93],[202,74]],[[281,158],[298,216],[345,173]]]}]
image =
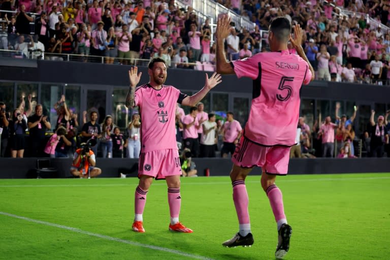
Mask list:
[{"label": "pink shorts of the bearded player facing the camera", "polygon": [[166,176],[181,175],[179,152],[176,149],[143,152],[138,165],[138,177],[148,175],[157,180],[165,179]]}]

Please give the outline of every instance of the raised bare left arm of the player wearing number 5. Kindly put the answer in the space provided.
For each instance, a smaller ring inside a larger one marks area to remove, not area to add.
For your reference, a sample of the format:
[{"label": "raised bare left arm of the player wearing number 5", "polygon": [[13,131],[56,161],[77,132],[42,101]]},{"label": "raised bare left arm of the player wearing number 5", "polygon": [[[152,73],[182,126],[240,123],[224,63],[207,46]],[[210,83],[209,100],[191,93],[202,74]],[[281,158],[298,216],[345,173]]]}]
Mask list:
[{"label": "raised bare left arm of the player wearing number 5", "polygon": [[217,29],[215,31],[215,36],[217,40],[217,46],[216,46],[216,67],[217,72],[220,74],[235,74],[234,70],[230,64],[226,60],[226,55],[224,52],[224,45],[223,42],[226,37],[230,35],[230,32],[232,30],[232,26],[230,26],[231,18],[228,14],[222,15],[218,18],[217,22]]}]

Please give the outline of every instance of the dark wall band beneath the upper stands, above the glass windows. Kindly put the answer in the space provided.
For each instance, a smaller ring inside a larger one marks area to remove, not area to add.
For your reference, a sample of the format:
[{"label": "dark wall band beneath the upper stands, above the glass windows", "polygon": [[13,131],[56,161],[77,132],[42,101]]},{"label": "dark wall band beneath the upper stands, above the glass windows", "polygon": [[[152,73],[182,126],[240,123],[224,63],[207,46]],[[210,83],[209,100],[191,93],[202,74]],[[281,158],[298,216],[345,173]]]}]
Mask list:
[{"label": "dark wall band beneath the upper stands, above the glass windows", "polygon": [[[24,62],[24,63],[23,63]],[[7,81],[50,82],[82,85],[127,86],[130,66],[83,63],[72,61],[47,61],[15,59],[0,60],[0,79]],[[149,77],[146,67],[140,67],[141,82]],[[208,72],[209,74],[211,72]],[[237,79],[225,75],[216,91],[251,93],[252,82],[248,78]],[[182,90],[198,90],[205,82],[205,72],[169,69],[166,84]],[[302,89],[302,98],[364,101],[388,103],[389,86],[314,81]]]}]

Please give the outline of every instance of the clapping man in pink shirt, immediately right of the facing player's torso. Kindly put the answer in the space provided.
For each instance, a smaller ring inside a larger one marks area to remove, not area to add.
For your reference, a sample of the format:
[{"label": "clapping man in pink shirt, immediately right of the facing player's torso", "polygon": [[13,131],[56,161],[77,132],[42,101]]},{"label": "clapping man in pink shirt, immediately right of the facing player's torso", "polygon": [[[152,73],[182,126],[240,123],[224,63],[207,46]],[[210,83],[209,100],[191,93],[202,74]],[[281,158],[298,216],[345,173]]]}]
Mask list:
[{"label": "clapping man in pink shirt, immediately right of the facing player's torso", "polygon": [[198,157],[199,141],[198,141],[198,129],[200,124],[197,118],[198,108],[191,107],[189,114],[183,118],[183,139],[184,148],[191,150],[192,157]]}]

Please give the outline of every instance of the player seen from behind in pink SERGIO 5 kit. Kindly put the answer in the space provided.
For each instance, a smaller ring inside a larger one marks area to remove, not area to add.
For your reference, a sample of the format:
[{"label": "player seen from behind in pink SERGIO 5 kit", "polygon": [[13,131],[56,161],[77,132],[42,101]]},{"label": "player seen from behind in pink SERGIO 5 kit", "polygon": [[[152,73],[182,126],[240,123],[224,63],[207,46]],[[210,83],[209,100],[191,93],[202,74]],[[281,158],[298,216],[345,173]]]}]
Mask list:
[{"label": "player seen from behind in pink SERGIO 5 kit", "polygon": [[[234,163],[230,174],[233,184],[233,201],[236,207],[239,232],[222,245],[226,247],[250,246],[253,236],[250,232],[248,193],[245,178],[254,166],[262,167],[262,187],[270,201],[277,222],[278,245],[276,258],[283,257],[289,249],[292,233],[284,214],[280,189],[275,185],[276,175],[286,175],[290,147],[295,145],[297,132],[300,90],[302,84],[314,79],[314,71],[301,46],[302,29],[291,24],[284,17],[271,21],[268,40],[271,52],[227,62],[223,52],[223,41],[231,31],[230,18],[223,15],[218,19],[217,72],[236,74],[253,80],[253,99],[244,134],[232,157]],[[290,41],[298,55],[290,54]]]}]

